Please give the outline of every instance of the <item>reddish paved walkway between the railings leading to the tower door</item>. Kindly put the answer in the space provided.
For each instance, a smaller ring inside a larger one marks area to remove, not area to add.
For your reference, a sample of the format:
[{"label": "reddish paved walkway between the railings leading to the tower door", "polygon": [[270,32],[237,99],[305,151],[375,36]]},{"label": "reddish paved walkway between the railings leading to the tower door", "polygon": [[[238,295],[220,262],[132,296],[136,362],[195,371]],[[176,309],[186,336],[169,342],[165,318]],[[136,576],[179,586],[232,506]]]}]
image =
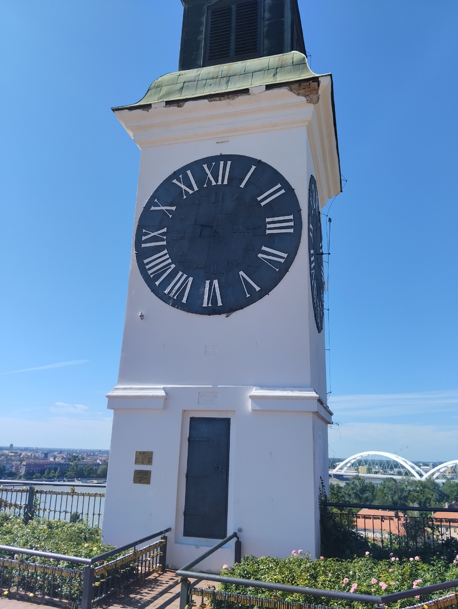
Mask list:
[{"label": "reddish paved walkway between the railings leading to the tower door", "polygon": [[[190,580],[200,588],[215,585],[205,580]],[[199,582],[199,583],[197,583]],[[113,607],[113,609],[179,609],[180,583],[175,571],[154,574],[147,577],[141,585],[128,588],[123,596],[112,596],[100,603],[97,607]],[[0,609],[32,609],[33,605],[56,609],[56,605],[46,605],[43,600],[36,598],[32,602],[16,599],[12,593],[10,597],[0,597]]]}]

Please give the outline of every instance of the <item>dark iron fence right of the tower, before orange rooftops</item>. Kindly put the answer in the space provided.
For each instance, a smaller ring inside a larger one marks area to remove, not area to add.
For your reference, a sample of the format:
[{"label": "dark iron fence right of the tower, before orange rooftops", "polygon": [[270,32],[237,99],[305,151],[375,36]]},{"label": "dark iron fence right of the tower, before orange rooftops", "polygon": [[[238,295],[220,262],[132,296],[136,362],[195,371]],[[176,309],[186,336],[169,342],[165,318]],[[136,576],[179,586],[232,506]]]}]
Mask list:
[{"label": "dark iron fence right of the tower, before orange rooftops", "polygon": [[389,552],[454,558],[458,552],[456,509],[328,502],[322,506],[321,519],[328,557],[363,555],[368,549],[378,558]]}]

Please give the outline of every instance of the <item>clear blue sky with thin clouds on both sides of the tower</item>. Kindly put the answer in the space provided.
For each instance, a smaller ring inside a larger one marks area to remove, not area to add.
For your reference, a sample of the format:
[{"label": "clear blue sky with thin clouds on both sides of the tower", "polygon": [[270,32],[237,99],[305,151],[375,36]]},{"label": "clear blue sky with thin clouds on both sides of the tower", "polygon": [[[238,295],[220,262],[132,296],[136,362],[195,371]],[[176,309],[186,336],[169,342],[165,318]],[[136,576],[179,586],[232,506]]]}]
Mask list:
[{"label": "clear blue sky with thin clouds on both sides of the tower", "polygon": [[[458,457],[454,0],[299,0],[332,72],[330,456]],[[0,445],[108,448],[139,150],[110,108],[178,66],[179,0],[3,0]]]}]

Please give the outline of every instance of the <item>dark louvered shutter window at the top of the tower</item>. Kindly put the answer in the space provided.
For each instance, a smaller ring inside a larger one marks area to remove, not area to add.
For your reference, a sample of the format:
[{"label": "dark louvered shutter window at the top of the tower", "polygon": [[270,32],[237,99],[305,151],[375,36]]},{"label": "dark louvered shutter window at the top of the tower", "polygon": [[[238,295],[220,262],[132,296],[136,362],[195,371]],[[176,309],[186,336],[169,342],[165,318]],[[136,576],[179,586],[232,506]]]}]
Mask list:
[{"label": "dark louvered shutter window at the top of the tower", "polygon": [[257,54],[258,48],[258,0],[232,2],[209,10],[209,63],[249,58]]}]

